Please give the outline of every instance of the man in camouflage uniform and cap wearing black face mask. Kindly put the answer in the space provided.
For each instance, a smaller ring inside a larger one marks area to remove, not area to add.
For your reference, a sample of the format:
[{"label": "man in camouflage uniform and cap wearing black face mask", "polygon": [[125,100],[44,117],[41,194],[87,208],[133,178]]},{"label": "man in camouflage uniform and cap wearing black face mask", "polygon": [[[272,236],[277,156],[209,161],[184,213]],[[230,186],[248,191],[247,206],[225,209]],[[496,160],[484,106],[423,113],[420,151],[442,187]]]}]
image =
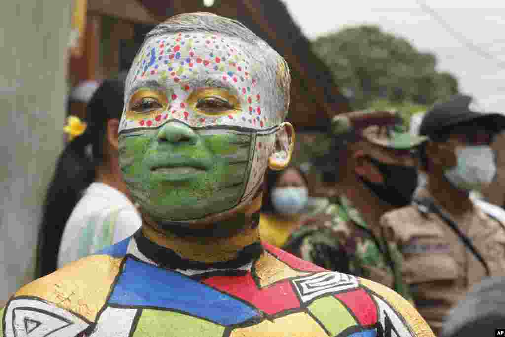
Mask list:
[{"label": "man in camouflage uniform and cap wearing black face mask", "polygon": [[[379,218],[410,204],[417,186],[413,151],[426,138],[410,135],[401,119],[388,111],[337,116],[332,134],[331,150],[318,162],[325,165],[326,183],[334,184],[339,193],[321,214],[291,233],[284,249],[410,298],[398,266],[401,255],[384,244]],[[328,177],[333,177],[331,182]]]}]

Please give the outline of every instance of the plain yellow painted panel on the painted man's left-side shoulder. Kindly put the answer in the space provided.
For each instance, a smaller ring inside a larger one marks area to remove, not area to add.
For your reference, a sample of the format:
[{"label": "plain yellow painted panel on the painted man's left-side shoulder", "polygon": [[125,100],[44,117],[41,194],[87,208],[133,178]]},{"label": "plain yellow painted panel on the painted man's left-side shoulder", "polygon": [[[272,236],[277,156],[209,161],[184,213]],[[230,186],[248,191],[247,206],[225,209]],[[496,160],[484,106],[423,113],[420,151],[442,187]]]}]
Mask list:
[{"label": "plain yellow painted panel on the painted man's left-side shoulder", "polygon": [[[45,303],[44,306],[68,310],[92,321],[105,304],[122,260],[120,257],[100,254],[71,262],[21,287],[7,307],[17,306],[16,300],[24,299],[34,307]],[[27,305],[30,304],[23,304]]]}]

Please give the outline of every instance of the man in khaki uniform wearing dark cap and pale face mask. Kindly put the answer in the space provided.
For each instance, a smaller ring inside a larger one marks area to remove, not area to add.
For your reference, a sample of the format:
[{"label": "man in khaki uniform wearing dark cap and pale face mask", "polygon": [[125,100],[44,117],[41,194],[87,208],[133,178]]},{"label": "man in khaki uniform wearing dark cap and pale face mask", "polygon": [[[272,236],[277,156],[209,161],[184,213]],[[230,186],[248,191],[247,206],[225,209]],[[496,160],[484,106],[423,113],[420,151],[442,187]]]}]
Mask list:
[{"label": "man in khaki uniform wearing dark cap and pale face mask", "polygon": [[469,198],[492,181],[495,155],[489,143],[505,117],[481,114],[457,95],[425,115],[420,134],[426,186],[413,205],[381,218],[383,235],[397,245],[419,312],[435,333],[451,307],[485,276],[505,275],[505,227]]}]

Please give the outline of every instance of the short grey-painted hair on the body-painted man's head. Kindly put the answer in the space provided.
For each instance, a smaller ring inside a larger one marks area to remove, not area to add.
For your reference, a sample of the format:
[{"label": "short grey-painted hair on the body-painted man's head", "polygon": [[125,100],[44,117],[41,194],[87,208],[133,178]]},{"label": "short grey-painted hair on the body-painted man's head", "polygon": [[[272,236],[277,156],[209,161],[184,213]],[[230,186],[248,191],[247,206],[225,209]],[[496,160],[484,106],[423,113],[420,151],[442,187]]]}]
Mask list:
[{"label": "short grey-painted hair on the body-painted man's head", "polygon": [[[265,92],[265,99],[279,102],[273,106],[284,119],[289,108],[289,87],[291,76],[286,61],[263,41],[258,35],[245,27],[242,23],[211,13],[187,13],[168,18],[149,31],[138,53],[151,39],[166,34],[179,32],[208,32],[224,34],[243,42],[252,48],[245,50],[249,57],[262,64],[261,81],[276,83],[272,92]],[[137,54],[138,56],[138,54]]]}]

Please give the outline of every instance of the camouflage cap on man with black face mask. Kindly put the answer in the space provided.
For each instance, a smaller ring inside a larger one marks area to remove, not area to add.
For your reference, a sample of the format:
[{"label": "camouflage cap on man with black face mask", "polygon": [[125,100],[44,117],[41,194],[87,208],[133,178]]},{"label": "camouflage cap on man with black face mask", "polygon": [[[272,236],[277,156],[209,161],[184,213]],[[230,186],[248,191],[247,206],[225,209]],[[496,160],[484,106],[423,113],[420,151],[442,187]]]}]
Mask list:
[{"label": "camouflage cap on man with black face mask", "polygon": [[358,136],[389,149],[408,150],[428,138],[409,133],[401,117],[394,111],[354,111],[332,120],[335,137]]}]

